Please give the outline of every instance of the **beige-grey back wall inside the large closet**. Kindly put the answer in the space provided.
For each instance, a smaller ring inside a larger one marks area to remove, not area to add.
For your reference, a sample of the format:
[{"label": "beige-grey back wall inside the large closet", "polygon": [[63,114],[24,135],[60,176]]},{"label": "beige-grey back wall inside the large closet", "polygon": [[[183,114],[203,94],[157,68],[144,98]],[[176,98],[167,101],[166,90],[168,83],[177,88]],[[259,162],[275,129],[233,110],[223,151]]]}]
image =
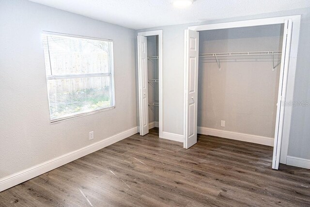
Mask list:
[{"label": "beige-grey back wall inside the large closet", "polygon": [[[283,26],[201,31],[199,53],[281,51]],[[274,138],[280,58],[199,57],[198,127]]]}]

